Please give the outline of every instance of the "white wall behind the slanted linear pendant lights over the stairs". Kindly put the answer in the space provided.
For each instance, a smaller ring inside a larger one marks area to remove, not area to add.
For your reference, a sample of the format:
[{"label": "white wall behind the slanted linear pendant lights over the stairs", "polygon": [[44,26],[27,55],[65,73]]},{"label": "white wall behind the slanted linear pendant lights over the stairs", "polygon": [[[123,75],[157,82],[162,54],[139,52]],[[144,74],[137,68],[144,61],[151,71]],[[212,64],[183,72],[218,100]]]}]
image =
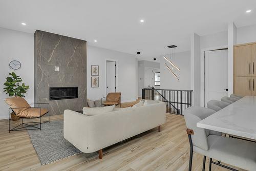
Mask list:
[{"label": "white wall behind the slanted linear pendant lights over the stairs", "polygon": [[165,67],[164,63],[170,67],[168,62],[160,57],[160,89],[190,90],[190,52],[176,53],[170,59],[180,68],[180,71],[174,69],[179,80]]}]

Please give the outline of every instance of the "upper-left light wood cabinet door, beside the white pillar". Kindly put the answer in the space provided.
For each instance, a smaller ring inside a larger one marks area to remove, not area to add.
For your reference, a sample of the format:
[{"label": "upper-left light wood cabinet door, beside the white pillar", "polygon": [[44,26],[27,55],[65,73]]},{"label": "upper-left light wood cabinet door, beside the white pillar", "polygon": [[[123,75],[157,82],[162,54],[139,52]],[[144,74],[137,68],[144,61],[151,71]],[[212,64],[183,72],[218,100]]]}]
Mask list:
[{"label": "upper-left light wood cabinet door, beside the white pillar", "polygon": [[234,52],[235,76],[251,76],[252,74],[252,45],[238,46]]}]

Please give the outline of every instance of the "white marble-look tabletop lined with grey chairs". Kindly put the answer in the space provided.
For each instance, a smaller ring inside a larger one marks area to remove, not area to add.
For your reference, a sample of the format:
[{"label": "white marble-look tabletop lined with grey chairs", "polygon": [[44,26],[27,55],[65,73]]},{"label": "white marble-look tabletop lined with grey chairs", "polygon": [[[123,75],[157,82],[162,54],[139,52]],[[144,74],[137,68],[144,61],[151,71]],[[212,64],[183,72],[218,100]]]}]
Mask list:
[{"label": "white marble-look tabletop lined with grey chairs", "polygon": [[197,122],[197,127],[256,140],[256,96],[245,96]]}]

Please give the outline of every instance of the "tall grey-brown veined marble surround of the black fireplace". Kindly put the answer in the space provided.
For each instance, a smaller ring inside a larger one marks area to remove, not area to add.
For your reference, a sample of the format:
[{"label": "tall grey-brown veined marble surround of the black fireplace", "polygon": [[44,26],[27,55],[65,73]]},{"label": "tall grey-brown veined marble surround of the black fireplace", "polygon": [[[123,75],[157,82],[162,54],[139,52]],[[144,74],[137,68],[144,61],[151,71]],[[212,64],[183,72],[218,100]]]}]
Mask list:
[{"label": "tall grey-brown veined marble surround of the black fireplace", "polygon": [[[50,103],[50,115],[82,110],[87,99],[87,41],[45,31],[34,33],[35,102]],[[59,71],[55,71],[59,67]],[[78,98],[49,100],[50,87],[78,87]]]}]

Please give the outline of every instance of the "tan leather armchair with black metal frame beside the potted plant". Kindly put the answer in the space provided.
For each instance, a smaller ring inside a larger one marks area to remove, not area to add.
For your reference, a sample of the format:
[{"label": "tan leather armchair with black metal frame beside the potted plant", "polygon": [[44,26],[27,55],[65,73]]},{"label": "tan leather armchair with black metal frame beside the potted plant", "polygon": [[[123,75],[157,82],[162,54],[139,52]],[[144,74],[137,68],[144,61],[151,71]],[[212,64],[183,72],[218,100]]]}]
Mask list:
[{"label": "tan leather armchair with black metal frame beside the potted plant", "polygon": [[[22,97],[11,97],[7,98],[6,103],[10,106],[9,108],[9,133],[10,131],[23,131],[23,130],[41,130],[41,123],[50,122],[49,103],[28,103]],[[41,108],[41,104],[48,104],[48,109]],[[34,106],[30,106],[34,105]],[[22,118],[22,123],[18,126],[10,129],[10,110],[19,118]],[[48,121],[41,121],[41,117],[48,113]],[[23,119],[35,119],[39,118],[39,122],[28,122],[24,123]],[[32,123],[32,124],[31,124]],[[35,125],[38,125],[35,126]],[[20,127],[23,125],[23,127]],[[33,127],[33,129],[26,129],[27,127]]]}]

